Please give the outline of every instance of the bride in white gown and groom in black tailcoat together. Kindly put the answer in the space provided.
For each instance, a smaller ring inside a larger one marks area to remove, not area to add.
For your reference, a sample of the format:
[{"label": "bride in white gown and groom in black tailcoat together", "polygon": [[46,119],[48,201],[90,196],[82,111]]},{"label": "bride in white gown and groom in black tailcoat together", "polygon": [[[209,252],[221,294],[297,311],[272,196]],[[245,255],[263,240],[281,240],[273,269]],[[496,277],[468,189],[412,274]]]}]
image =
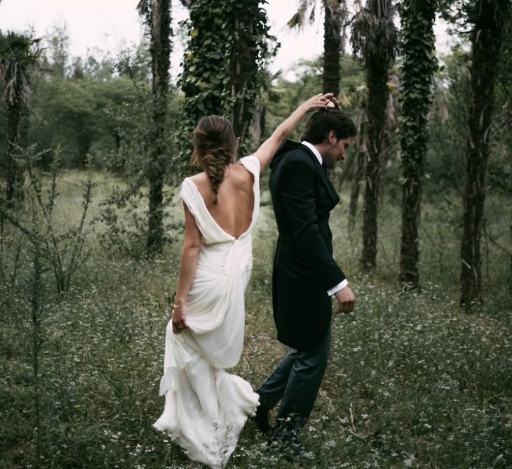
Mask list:
[{"label": "bride in white gown and groom in black tailcoat together", "polygon": [[[302,142],[286,140],[309,112]],[[299,105],[238,161],[227,119],[203,117],[195,128],[191,163],[203,172],[185,178],[179,194],[184,243],[165,338],[159,390],[165,405],[154,423],[184,449],[191,467],[223,468],[248,418],[267,435],[269,451],[297,463],[314,460],[299,430],[328,362],[333,298],[337,313],[352,312],[355,304],[333,258],[329,214],[339,197],[327,170],[345,159],[355,135],[332,93]],[[277,339],[290,350],[263,383],[248,383],[225,369],[236,366],[243,352],[251,234],[267,166],[278,228],[272,305]]]}]

